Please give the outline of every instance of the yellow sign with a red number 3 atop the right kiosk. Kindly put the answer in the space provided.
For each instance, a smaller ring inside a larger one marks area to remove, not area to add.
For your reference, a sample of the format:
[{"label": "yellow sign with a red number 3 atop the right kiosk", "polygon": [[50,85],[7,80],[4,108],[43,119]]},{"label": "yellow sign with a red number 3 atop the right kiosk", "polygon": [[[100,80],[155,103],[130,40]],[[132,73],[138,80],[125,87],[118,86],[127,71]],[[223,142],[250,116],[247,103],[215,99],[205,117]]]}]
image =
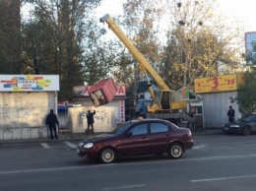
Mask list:
[{"label": "yellow sign with a red number 3 atop the right kiosk", "polygon": [[238,86],[241,85],[243,81],[243,74],[195,79],[195,93],[237,91]]}]

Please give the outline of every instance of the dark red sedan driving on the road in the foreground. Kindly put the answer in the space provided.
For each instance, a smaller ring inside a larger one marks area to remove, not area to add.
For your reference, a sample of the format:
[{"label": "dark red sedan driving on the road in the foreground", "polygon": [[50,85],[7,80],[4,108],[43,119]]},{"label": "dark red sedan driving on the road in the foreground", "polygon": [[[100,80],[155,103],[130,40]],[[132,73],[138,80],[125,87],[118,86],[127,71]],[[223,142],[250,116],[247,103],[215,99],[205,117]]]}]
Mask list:
[{"label": "dark red sedan driving on the road in the foreground", "polygon": [[121,124],[112,132],[96,135],[79,143],[77,153],[83,159],[110,163],[116,159],[162,155],[179,159],[194,146],[191,131],[167,120],[144,119]]}]

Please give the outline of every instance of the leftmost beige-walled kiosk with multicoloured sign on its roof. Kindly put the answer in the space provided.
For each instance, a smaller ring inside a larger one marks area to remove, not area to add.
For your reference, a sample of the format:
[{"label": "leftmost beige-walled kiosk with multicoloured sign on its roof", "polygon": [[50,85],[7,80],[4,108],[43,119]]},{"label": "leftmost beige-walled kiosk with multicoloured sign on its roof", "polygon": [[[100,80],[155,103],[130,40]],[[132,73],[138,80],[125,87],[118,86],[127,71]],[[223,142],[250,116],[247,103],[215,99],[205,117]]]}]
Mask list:
[{"label": "leftmost beige-walled kiosk with multicoloured sign on its roof", "polygon": [[45,118],[57,111],[58,75],[0,75],[0,140],[48,137]]}]

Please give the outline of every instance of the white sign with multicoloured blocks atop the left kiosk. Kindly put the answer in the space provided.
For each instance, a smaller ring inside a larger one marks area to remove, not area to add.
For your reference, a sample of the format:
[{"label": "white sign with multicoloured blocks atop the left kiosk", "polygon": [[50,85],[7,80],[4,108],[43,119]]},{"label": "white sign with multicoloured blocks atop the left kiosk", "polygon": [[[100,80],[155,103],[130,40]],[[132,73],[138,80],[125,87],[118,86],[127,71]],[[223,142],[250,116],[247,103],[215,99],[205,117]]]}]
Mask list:
[{"label": "white sign with multicoloured blocks atop the left kiosk", "polygon": [[0,75],[0,92],[59,91],[58,75]]}]

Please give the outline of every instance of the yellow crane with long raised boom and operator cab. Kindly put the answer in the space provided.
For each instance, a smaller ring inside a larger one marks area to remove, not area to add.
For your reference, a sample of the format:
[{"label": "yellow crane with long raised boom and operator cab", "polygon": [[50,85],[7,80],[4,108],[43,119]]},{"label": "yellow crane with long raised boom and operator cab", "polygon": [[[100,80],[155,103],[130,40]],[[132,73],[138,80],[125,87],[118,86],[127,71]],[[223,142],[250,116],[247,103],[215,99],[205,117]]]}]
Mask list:
[{"label": "yellow crane with long raised boom and operator cab", "polygon": [[[180,99],[179,93],[170,90],[164,83],[158,72],[152,67],[145,56],[137,49],[127,35],[122,32],[118,25],[110,18],[108,14],[99,19],[101,23],[107,23],[108,28],[112,30],[117,37],[123,42],[123,44],[129,49],[130,53],[140,64],[142,71],[146,74],[148,79],[149,92],[153,99],[153,104],[148,106],[147,117],[162,118],[162,119],[178,119],[183,117],[185,120],[192,121],[193,119],[182,112],[181,109],[186,108],[187,103]],[[159,92],[154,92],[147,76],[147,73],[155,80]]]}]

